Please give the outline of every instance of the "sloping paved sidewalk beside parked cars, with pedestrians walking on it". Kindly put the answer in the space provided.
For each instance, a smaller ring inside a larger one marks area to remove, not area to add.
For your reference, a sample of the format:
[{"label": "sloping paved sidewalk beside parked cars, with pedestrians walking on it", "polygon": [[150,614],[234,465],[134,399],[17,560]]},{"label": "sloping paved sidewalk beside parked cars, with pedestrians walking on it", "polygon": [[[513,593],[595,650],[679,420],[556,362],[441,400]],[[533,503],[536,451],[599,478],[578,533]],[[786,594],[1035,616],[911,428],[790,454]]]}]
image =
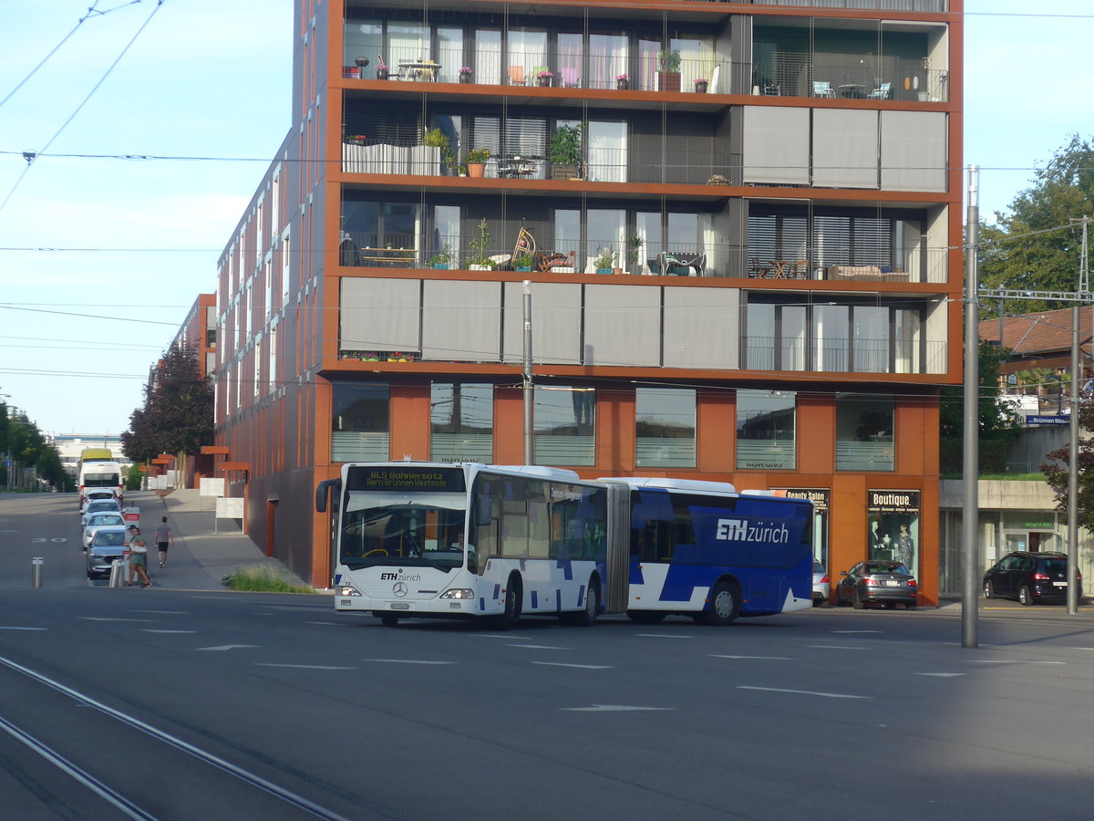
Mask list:
[{"label": "sloping paved sidewalk beside parked cars, with pedestrians walking on it", "polygon": [[[173,490],[162,499],[152,490],[126,494],[126,505],[140,509],[140,529],[148,540],[148,573],[152,587],[171,590],[226,590],[222,579],[241,566],[269,565],[290,585],[305,585],[279,559],[269,558],[244,535],[234,519],[216,519],[216,499],[194,490]],[[161,568],[155,529],[166,516],[175,544]],[[216,531],[214,530],[216,525]]]}]

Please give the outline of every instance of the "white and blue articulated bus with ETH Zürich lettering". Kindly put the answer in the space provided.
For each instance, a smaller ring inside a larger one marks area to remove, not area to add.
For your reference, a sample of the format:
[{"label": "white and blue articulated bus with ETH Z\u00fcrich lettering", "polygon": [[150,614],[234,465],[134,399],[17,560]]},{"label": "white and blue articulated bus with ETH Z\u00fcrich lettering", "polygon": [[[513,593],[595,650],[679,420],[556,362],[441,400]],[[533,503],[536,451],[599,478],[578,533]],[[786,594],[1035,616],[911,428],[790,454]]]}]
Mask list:
[{"label": "white and blue articulated bus with ETH Z\u00fcrich lettering", "polygon": [[345,464],[316,488],[335,532],[335,609],[708,624],[812,605],[808,501],[688,479],[581,479],[529,465]]}]

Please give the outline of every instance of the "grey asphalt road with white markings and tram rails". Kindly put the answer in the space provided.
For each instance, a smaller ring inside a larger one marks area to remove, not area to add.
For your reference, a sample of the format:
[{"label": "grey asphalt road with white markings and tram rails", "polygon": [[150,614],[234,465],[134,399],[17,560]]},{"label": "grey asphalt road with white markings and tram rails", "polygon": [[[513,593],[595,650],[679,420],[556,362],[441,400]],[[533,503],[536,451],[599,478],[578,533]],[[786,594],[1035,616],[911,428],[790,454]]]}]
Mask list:
[{"label": "grey asphalt road with white markings and tram rails", "polygon": [[1091,816],[1085,609],[385,628],[89,585],[70,508],[0,496],[9,818]]}]

